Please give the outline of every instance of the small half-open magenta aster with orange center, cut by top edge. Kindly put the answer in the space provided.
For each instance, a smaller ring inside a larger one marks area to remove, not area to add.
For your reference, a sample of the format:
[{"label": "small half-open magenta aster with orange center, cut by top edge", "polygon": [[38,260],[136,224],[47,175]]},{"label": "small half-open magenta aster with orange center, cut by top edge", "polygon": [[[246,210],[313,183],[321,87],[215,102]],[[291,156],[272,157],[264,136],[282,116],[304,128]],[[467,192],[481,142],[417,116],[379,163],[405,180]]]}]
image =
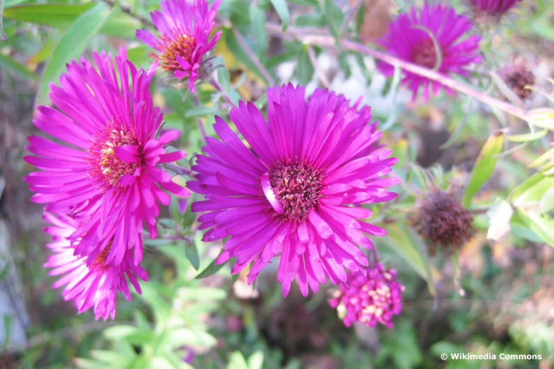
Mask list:
[{"label": "small half-open magenta aster with orange center, cut by top edge", "polygon": [[150,57],[173,76],[188,77],[191,92],[200,76],[204,55],[213,49],[221,35],[218,32],[209,39],[221,2],[215,0],[208,9],[207,0],[162,0],[162,11],[150,13],[160,36],[156,38],[148,30],[137,29],[137,38],[157,51],[150,53]]}]

